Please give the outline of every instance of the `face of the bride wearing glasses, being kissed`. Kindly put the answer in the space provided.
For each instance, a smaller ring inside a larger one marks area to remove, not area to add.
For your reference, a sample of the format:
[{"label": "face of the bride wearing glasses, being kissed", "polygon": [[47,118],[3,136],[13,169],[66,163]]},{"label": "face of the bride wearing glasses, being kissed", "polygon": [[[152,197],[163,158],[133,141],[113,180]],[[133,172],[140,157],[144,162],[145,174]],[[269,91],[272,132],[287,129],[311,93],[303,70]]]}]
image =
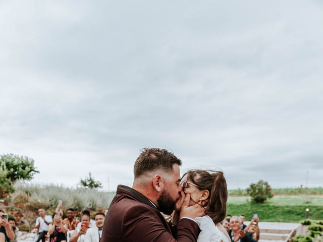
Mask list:
[{"label": "face of the bride wearing glasses, being kissed", "polygon": [[183,188],[183,192],[191,196],[189,206],[195,205],[196,203],[202,206],[202,201],[206,199],[204,196],[205,190],[203,191],[202,188],[199,188],[196,184],[194,184],[193,181],[188,178],[187,174],[183,176],[181,186]]}]

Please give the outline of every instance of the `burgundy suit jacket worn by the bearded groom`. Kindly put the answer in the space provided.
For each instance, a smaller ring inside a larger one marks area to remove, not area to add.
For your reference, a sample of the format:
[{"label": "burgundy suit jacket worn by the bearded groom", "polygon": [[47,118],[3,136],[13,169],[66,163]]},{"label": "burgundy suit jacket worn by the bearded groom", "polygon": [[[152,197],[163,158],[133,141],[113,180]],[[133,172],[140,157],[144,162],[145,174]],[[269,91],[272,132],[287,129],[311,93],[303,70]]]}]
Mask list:
[{"label": "burgundy suit jacket worn by the bearded groom", "polygon": [[146,197],[119,185],[104,220],[101,242],[196,242],[199,233],[197,223],[187,218],[172,227]]}]

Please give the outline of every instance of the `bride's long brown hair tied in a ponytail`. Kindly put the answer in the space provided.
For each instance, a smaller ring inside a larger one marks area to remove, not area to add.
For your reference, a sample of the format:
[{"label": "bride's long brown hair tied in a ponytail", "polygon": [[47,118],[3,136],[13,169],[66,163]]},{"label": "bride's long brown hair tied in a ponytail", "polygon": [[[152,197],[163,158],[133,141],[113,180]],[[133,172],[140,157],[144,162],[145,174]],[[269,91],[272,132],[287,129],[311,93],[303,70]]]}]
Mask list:
[{"label": "bride's long brown hair tied in a ponytail", "polygon": [[209,191],[205,215],[210,216],[214,223],[224,220],[227,212],[228,189],[223,172],[216,170],[189,170],[185,174],[195,185]]}]

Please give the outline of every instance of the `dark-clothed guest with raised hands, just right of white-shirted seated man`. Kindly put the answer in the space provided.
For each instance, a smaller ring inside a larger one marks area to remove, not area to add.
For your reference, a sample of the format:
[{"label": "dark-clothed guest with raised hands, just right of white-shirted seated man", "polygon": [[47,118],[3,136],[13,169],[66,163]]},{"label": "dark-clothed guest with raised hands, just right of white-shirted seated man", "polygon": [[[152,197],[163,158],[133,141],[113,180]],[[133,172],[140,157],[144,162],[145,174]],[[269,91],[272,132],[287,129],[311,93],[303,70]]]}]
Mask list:
[{"label": "dark-clothed guest with raised hands, just right of white-shirted seated man", "polygon": [[50,242],[66,242],[67,227],[63,224],[61,213],[53,215],[53,224],[49,224],[48,233]]}]

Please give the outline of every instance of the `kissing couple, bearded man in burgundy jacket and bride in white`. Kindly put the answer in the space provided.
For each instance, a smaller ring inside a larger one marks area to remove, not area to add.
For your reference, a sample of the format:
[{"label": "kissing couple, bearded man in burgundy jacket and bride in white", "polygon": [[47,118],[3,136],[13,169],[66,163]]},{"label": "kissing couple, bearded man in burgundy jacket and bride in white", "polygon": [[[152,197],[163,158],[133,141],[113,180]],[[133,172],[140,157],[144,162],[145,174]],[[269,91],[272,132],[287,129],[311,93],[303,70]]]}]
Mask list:
[{"label": "kissing couple, bearded man in burgundy jacket and bride in white", "polygon": [[223,172],[189,170],[181,177],[181,164],[168,150],[142,149],[132,188],[119,185],[110,204],[101,242],[229,242],[221,225],[228,198]]}]

